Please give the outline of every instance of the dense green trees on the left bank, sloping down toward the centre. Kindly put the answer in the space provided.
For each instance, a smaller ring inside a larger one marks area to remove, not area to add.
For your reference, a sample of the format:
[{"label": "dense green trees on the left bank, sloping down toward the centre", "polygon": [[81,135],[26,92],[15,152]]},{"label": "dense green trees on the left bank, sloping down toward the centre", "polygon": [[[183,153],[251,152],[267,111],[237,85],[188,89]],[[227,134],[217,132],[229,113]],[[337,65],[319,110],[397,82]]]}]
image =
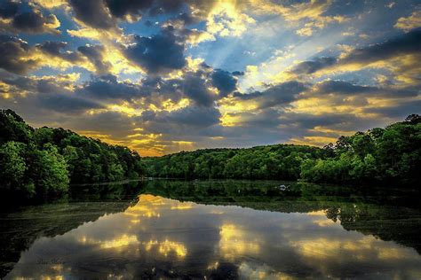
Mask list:
[{"label": "dense green trees on the left bank, sloping down toward the centre", "polygon": [[75,191],[72,184],[139,178],[144,170],[126,147],[63,128],[31,128],[12,110],[0,110],[1,198],[60,197]]}]

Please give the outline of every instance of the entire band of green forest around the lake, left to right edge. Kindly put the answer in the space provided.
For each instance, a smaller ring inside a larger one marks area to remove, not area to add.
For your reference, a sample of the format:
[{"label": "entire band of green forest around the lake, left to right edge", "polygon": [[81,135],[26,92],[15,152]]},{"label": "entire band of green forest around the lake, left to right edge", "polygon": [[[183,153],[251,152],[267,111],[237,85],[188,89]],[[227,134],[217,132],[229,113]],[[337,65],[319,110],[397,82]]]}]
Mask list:
[{"label": "entire band of green forest around the lake, left to right edge", "polygon": [[275,144],[140,159],[137,152],[63,128],[31,128],[0,110],[0,196],[55,198],[83,183],[163,178],[303,179],[421,185],[421,117],[341,136],[323,148]]}]

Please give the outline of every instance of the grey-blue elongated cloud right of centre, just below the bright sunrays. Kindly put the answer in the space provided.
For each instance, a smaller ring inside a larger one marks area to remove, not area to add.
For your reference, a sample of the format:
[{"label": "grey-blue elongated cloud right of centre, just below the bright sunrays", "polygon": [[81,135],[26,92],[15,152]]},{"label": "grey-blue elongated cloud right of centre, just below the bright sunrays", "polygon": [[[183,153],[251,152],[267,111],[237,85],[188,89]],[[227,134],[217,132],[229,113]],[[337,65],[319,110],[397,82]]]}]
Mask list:
[{"label": "grey-blue elongated cloud right of centre, just below the bright sunrays", "polygon": [[270,86],[264,91],[255,91],[250,94],[235,92],[234,97],[242,100],[256,100],[259,108],[288,105],[296,100],[298,95],[307,89],[306,84],[297,81],[283,82]]}]

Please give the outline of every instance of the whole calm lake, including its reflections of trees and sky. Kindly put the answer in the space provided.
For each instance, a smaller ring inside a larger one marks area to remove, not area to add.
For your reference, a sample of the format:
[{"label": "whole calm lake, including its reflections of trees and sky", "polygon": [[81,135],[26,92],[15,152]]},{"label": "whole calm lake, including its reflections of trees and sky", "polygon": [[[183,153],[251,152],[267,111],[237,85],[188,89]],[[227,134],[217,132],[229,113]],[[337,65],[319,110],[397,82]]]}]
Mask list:
[{"label": "whole calm lake, including its reflections of trees and sky", "polygon": [[79,189],[2,210],[0,276],[421,278],[415,191],[169,180]]}]

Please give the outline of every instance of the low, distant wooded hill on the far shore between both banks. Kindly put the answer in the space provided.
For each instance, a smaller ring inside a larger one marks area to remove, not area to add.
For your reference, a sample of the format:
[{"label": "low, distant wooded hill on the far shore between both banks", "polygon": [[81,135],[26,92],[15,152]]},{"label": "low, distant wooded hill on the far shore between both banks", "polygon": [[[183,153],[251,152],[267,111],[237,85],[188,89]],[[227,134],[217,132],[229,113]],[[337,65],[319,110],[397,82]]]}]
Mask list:
[{"label": "low, distant wooded hill on the far shore between both banks", "polygon": [[320,148],[292,144],[250,149],[206,149],[147,158],[147,175],[168,178],[296,180],[305,159],[325,158]]}]

